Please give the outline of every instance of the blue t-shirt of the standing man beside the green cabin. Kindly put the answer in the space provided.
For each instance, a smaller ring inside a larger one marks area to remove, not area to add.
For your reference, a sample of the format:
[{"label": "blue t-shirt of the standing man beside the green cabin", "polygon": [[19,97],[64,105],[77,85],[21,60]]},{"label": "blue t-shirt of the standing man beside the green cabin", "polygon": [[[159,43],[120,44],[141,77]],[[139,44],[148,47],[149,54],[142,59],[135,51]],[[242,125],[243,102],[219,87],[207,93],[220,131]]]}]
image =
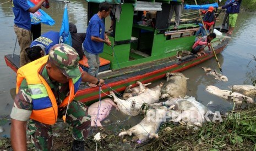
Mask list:
[{"label": "blue t-shirt of the standing man beside the green cabin", "polygon": [[83,42],[84,49],[91,54],[100,54],[103,52],[104,43],[91,40],[91,36],[104,39],[105,25],[104,20],[100,19],[97,14],[92,16],[86,30],[86,37]]}]

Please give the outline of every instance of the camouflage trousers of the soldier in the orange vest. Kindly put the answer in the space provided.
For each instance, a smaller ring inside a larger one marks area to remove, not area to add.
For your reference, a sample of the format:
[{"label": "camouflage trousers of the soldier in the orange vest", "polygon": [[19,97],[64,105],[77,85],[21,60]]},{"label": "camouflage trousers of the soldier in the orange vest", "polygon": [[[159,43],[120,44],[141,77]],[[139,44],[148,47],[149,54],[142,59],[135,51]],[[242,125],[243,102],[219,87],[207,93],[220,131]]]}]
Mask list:
[{"label": "camouflage trousers of the soldier in the orange vest", "polygon": [[[66,108],[59,111],[59,117],[66,113]],[[45,117],[47,118],[47,117]],[[74,140],[84,141],[89,134],[91,117],[88,115],[88,107],[77,101],[69,104],[66,122],[73,126],[72,137]],[[51,150],[53,146],[52,127],[39,121],[28,121],[28,135],[34,143],[36,150]]]}]

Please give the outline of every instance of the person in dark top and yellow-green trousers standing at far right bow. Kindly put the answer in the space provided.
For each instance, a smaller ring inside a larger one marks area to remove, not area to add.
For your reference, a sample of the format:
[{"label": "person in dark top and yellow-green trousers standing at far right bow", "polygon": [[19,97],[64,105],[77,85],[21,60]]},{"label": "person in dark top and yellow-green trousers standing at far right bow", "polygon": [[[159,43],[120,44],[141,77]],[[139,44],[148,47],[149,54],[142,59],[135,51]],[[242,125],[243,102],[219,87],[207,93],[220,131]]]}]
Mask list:
[{"label": "person in dark top and yellow-green trousers standing at far right bow", "polygon": [[[236,20],[237,20],[237,16],[238,13],[240,11],[240,5],[242,3],[242,0],[235,0],[232,1],[231,3],[228,3],[224,6],[221,7],[221,9],[226,9],[228,8],[229,11],[229,20],[228,20],[228,34],[232,34],[235,25],[236,25]],[[230,8],[229,8],[230,7]]]}]

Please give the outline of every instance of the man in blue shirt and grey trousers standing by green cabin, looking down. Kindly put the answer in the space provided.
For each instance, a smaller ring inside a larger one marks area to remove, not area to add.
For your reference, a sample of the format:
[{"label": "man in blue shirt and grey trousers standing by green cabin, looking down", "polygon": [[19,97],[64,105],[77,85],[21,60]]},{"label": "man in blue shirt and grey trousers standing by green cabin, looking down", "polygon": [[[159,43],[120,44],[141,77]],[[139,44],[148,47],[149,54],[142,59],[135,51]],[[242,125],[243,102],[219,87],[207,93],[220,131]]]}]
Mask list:
[{"label": "man in blue shirt and grey trousers standing by green cabin, looking down", "polygon": [[[84,54],[88,59],[89,70],[88,73],[97,77],[100,67],[100,56],[103,52],[104,43],[111,45],[105,33],[104,19],[110,15],[111,5],[107,2],[100,3],[99,11],[92,16],[86,30],[86,37],[83,42]],[[95,84],[88,84],[95,87]]]}]

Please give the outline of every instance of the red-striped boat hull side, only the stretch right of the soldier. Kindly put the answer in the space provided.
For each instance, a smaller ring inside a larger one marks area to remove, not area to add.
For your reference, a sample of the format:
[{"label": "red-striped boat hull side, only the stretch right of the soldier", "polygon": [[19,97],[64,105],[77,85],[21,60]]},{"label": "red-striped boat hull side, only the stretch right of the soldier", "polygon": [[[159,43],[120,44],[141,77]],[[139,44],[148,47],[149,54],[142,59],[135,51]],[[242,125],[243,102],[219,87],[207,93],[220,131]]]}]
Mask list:
[{"label": "red-striped boat hull side, only the stretch right of the soldier", "polygon": [[[221,51],[224,50],[228,43],[228,40],[221,43],[220,45],[217,45],[214,47],[215,53],[219,54]],[[136,81],[139,80],[142,83],[149,83],[153,82],[157,79],[161,79],[165,77],[165,74],[167,72],[181,72],[184,71],[190,67],[199,65],[200,63],[211,59],[211,57],[214,57],[213,51],[209,51],[205,55],[199,56],[199,57],[191,57],[189,60],[185,61],[172,61],[170,63],[166,63],[166,65],[159,65],[159,66],[151,66],[146,69],[141,69],[137,72],[132,72],[129,74],[123,73],[123,75],[119,75],[114,78],[105,79],[105,85],[101,87],[101,90],[99,88],[83,88],[81,86],[81,89],[77,92],[76,99],[85,102],[85,103],[92,103],[94,101],[99,101],[99,98],[105,97],[106,94],[109,94],[109,91],[116,91],[116,92],[122,92],[126,89],[128,85],[135,86]],[[161,67],[162,66],[162,67]],[[216,64],[217,66],[217,64]]]}]

